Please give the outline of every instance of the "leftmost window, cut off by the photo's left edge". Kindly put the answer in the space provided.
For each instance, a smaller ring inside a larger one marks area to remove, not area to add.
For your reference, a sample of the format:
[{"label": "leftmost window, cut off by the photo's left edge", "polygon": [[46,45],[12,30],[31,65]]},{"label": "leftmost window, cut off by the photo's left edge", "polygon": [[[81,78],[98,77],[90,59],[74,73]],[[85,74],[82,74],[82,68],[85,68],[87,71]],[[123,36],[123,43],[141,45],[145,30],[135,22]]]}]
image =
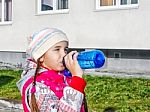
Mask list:
[{"label": "leftmost window, cut off by the photo's left edge", "polygon": [[12,21],[12,0],[0,0],[0,23]]}]

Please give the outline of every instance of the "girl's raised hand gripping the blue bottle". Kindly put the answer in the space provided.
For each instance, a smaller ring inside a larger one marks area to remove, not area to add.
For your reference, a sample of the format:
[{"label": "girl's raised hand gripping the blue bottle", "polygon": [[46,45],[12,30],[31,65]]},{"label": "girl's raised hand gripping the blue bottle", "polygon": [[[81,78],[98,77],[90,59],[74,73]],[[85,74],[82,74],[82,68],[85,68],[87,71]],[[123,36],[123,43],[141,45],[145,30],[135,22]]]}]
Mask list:
[{"label": "girl's raised hand gripping the blue bottle", "polygon": [[67,69],[71,72],[72,76],[82,77],[83,70],[78,63],[77,56],[77,51],[71,51],[65,56],[65,65]]}]

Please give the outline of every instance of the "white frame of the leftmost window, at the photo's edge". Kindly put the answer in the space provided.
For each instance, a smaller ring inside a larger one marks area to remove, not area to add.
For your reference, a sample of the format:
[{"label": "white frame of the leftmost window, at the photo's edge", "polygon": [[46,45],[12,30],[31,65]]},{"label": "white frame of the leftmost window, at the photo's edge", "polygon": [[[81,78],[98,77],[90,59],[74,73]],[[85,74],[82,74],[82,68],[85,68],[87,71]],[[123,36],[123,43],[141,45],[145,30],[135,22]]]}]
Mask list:
[{"label": "white frame of the leftmost window, at the photo's edge", "polygon": [[[13,19],[13,0],[12,0],[12,15],[11,15],[12,19]],[[12,19],[11,21],[4,21],[4,0],[2,0],[2,16],[1,16],[1,21],[0,21],[0,25],[9,25],[12,24]]]}]

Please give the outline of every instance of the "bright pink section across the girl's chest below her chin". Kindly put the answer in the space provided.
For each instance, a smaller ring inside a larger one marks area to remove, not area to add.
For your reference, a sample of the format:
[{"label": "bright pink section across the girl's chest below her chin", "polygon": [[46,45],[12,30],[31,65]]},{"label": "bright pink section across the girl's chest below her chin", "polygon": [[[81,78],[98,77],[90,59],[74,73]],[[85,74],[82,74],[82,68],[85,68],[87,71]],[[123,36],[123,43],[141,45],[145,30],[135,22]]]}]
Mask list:
[{"label": "bright pink section across the girl's chest below her chin", "polygon": [[56,94],[59,99],[63,96],[63,88],[71,82],[71,78],[64,77],[63,74],[58,74],[54,70],[41,72],[36,77],[37,82],[43,81]]}]

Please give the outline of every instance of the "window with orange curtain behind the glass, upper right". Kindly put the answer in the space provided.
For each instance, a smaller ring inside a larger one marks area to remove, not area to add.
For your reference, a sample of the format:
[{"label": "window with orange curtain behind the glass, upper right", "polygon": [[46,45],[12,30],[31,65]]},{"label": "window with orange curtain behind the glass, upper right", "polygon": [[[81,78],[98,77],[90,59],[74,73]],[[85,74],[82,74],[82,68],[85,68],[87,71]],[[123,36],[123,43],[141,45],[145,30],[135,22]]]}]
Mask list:
[{"label": "window with orange curtain behind the glass, upper right", "polygon": [[96,9],[137,8],[139,0],[96,0]]}]

